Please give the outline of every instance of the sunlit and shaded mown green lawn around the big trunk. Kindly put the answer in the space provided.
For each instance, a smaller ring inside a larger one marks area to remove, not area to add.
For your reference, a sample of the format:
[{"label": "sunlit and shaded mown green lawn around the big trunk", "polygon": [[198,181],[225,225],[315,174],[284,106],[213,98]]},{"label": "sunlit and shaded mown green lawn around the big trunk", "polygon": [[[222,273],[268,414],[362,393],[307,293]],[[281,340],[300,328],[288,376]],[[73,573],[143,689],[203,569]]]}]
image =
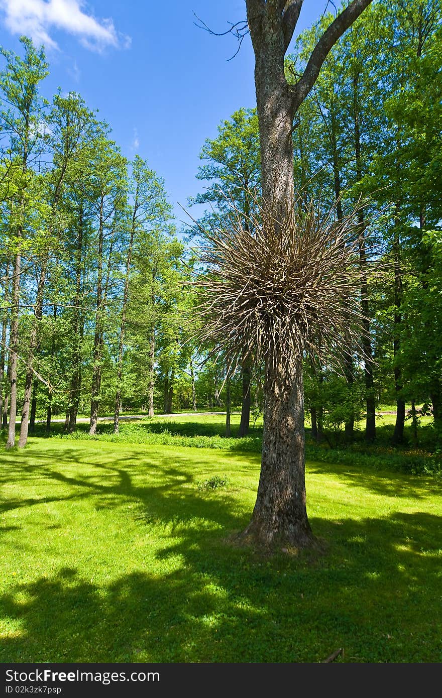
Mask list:
[{"label": "sunlit and shaded mown green lawn around the big trunk", "polygon": [[32,438],[0,468],[3,662],[442,661],[434,480],[309,463],[327,551],[266,558],[226,542],[259,454]]}]

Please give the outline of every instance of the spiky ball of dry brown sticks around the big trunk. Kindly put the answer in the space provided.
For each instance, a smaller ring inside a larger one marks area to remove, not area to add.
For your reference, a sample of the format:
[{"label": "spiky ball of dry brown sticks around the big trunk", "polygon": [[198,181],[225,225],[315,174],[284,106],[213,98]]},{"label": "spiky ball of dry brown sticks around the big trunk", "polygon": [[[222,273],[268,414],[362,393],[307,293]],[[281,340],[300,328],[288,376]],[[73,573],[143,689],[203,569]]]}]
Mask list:
[{"label": "spiky ball of dry brown sticks around the big trunk", "polygon": [[204,231],[205,271],[195,280],[200,339],[230,364],[244,354],[268,365],[359,345],[357,210],[336,220],[333,209],[321,213],[301,198],[282,216],[255,204],[249,217],[232,204]]}]

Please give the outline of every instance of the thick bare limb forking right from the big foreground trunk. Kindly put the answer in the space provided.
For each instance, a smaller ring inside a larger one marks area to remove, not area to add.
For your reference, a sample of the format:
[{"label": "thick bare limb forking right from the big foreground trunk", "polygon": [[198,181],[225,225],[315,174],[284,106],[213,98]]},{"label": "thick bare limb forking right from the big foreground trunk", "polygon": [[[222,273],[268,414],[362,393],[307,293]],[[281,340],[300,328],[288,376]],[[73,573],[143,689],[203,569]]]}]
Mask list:
[{"label": "thick bare limb forking right from the big foreground trunk", "polygon": [[344,12],[341,12],[341,14],[337,16],[332,24],[330,24],[330,27],[327,27],[323,36],[321,36],[320,40],[314,47],[302,77],[300,77],[300,80],[298,80],[293,89],[291,103],[293,116],[299,109],[300,105],[302,105],[302,102],[309,94],[311,88],[314,86],[323,62],[327,58],[327,55],[330,53],[330,50],[334,44],[342,36],[342,34],[344,34],[344,31],[346,31],[348,27],[351,27],[353,22],[358,19],[360,14],[362,14],[364,9],[369,6],[370,3],[371,0],[353,0],[353,2],[348,5]]}]

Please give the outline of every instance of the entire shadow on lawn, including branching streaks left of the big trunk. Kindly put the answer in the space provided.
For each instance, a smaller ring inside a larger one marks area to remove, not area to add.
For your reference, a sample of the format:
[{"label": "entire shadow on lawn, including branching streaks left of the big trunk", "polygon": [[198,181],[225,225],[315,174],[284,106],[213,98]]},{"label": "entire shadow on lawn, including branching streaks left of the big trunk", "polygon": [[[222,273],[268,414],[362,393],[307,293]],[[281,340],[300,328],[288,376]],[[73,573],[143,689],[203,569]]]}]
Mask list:
[{"label": "entire shadow on lawn, including branching streaks left of the big trunk", "polygon": [[32,471],[43,484],[98,507],[135,503],[127,515],[146,535],[160,523],[162,543],[145,569],[126,560],[101,586],[63,560],[11,586],[0,613],[15,630],[1,661],[317,662],[341,646],[348,661],[442,660],[442,517],[311,518],[326,555],[265,558],[224,542],[249,512],[234,492],[198,491],[185,459],[147,456],[142,467],[158,475],[147,486],[139,452],[97,463],[93,477],[64,472],[69,452],[55,470],[53,455]]}]

